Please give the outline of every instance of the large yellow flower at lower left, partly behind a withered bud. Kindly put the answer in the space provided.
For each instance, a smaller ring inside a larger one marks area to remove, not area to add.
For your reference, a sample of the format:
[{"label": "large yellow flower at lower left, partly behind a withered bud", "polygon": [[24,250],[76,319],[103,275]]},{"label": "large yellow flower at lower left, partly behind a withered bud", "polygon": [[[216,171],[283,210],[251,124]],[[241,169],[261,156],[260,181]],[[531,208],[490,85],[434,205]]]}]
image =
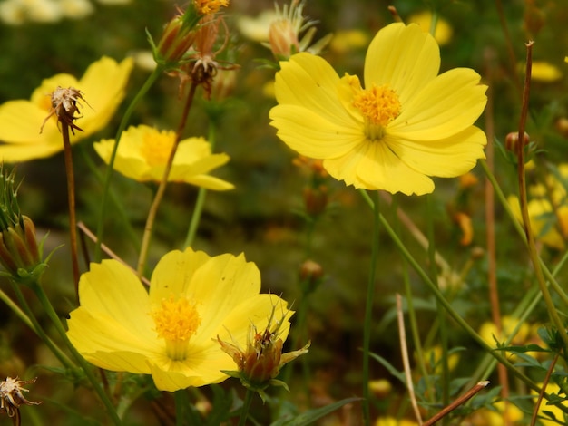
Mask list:
[{"label": "large yellow flower at lower left, partly behind a withered bud", "polygon": [[152,374],[162,391],[218,383],[229,377],[220,371],[235,365],[218,335],[244,346],[250,324],[266,327],[278,306],[280,338],[288,336],[293,313],[287,303],[259,292],[259,269],[242,254],[171,251],[154,269],[149,292],[127,266],[103,260],[81,276],[81,305],[67,335],[90,363]]}]

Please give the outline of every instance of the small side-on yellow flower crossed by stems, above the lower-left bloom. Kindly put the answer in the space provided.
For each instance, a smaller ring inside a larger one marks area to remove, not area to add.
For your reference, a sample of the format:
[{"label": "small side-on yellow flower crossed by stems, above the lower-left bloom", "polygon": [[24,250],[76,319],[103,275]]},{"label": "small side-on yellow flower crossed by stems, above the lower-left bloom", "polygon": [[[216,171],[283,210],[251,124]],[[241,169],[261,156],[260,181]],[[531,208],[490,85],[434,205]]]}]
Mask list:
[{"label": "small side-on yellow flower crossed by stems, above the lower-left bloom", "polygon": [[[122,133],[114,169],[131,179],[159,182],[174,142],[174,131],[158,131],[144,125],[130,127]],[[114,140],[101,140],[94,144],[94,150],[108,164],[113,146]],[[181,140],[168,180],[207,189],[233,189],[229,182],[207,174],[227,161],[227,154],[211,154],[211,145],[203,138]]]}]

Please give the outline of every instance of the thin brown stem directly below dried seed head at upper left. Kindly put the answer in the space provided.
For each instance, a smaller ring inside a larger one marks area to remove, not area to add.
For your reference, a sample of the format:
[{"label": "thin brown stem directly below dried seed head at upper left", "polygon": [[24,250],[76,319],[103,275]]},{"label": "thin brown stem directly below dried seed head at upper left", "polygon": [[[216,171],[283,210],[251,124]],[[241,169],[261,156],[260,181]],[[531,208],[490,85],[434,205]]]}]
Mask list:
[{"label": "thin brown stem directly below dried seed head at upper left", "polygon": [[75,178],[73,156],[69,141],[69,125],[61,120],[61,134],[64,139],[65,173],[67,174],[67,203],[69,204],[69,237],[71,239],[71,264],[73,266],[73,285],[75,295],[79,297],[79,257],[77,255],[77,218],[75,216]]}]

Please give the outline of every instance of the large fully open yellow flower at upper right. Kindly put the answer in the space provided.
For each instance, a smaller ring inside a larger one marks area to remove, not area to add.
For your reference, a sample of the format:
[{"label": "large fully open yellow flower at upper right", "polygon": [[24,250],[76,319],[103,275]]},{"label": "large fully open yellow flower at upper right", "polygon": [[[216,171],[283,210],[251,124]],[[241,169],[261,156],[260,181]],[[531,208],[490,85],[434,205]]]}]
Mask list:
[{"label": "large fully open yellow flower at upper right", "polygon": [[456,177],[484,158],[473,123],[486,86],[468,68],[437,75],[439,48],[418,25],[389,24],[368,47],[365,86],[308,53],[280,63],[271,125],[293,150],[362,189],[434,190],[428,176]]}]

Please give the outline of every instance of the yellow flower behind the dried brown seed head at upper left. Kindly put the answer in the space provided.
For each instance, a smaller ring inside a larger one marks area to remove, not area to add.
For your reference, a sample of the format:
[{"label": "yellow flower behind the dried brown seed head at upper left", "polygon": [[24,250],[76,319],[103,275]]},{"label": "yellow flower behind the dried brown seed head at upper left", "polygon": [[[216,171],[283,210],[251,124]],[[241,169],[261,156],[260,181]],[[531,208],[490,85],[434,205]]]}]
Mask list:
[{"label": "yellow flower behind the dried brown seed head at upper left", "polygon": [[[51,110],[50,94],[61,86],[73,86],[83,94],[86,102],[79,106],[82,118],[77,125],[83,131],[70,135],[71,143],[100,131],[113,117],[124,98],[124,88],[132,70],[132,59],[122,63],[103,57],[92,63],[77,81],[73,75],[57,74],[44,80],[34,90],[30,101],[9,101],[0,105],[0,160],[5,162],[27,161],[50,157],[64,149],[61,133],[54,115],[42,123]],[[88,104],[87,104],[88,103]]]}]

